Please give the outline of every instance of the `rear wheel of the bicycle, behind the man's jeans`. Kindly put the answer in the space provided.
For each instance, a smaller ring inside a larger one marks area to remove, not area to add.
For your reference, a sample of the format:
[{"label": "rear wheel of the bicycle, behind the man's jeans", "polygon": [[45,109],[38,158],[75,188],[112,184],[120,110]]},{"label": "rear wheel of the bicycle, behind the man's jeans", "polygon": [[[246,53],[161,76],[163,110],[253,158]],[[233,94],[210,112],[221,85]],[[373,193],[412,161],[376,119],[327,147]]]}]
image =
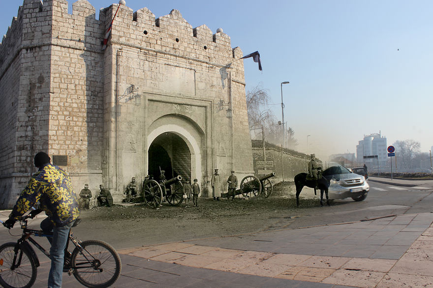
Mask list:
[{"label": "rear wheel of the bicycle, behind the man's jeans", "polygon": [[122,263],[119,254],[109,244],[88,240],[72,252],[74,277],[86,287],[109,287],[120,276]]}]

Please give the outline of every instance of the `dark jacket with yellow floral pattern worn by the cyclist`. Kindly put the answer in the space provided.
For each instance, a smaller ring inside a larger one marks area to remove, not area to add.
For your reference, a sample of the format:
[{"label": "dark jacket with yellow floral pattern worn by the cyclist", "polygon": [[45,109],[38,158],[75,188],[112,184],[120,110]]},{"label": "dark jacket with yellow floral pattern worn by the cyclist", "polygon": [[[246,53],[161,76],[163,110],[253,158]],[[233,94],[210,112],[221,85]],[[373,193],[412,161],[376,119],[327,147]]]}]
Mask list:
[{"label": "dark jacket with yellow floral pattern worn by the cyclist", "polygon": [[55,165],[47,164],[33,174],[9,217],[22,216],[38,201],[55,226],[64,226],[80,215],[71,179]]}]

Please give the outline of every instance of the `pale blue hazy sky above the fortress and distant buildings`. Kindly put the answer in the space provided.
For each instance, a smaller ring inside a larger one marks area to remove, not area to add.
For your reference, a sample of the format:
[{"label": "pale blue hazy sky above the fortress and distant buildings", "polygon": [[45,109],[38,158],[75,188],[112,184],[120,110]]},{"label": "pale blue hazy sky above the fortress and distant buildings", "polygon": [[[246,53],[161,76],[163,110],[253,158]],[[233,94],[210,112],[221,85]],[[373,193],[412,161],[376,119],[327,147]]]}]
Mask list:
[{"label": "pale blue hazy sky above the fortress and distant buildings", "polygon": [[[22,0],[0,0],[5,34]],[[72,8],[69,1],[69,12]],[[117,0],[89,0],[96,8]],[[258,84],[285,104],[297,150],[322,158],[355,152],[364,135],[388,145],[433,145],[433,1],[431,0],[126,0],[156,17],[178,9],[192,27],[222,28],[244,55],[256,50],[263,73],[244,60],[247,90]],[[273,105],[281,119],[281,106]],[[324,159],[326,160],[326,159]]]}]

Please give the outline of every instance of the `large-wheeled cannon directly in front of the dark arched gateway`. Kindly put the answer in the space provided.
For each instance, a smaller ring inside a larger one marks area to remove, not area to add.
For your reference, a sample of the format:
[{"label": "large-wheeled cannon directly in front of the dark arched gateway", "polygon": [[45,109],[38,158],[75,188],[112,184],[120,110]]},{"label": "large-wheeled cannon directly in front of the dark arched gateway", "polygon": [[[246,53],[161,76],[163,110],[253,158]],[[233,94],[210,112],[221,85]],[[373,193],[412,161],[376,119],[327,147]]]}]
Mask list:
[{"label": "large-wheeled cannon directly in front of the dark arched gateway", "polygon": [[178,175],[169,180],[160,181],[147,180],[143,183],[143,199],[146,205],[157,208],[165,198],[173,206],[177,206],[184,200],[182,176]]}]

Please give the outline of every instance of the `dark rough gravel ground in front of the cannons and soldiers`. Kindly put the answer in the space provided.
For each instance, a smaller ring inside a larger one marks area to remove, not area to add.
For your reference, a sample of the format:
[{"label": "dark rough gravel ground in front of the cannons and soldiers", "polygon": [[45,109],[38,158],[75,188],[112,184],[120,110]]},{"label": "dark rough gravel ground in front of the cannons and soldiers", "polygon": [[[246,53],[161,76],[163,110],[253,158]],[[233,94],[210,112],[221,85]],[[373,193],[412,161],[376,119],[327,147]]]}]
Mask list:
[{"label": "dark rough gravel ground in front of the cannons and soldiers", "polygon": [[[136,203],[83,210],[74,231],[80,238],[103,239],[116,248],[146,246],[287,227],[292,219],[320,207],[318,200],[288,196],[243,200],[199,199],[198,207],[163,203],[159,210]],[[97,227],[98,229],[95,229]],[[105,229],[100,229],[105,228]],[[127,235],[127,236],[126,236]]]}]

